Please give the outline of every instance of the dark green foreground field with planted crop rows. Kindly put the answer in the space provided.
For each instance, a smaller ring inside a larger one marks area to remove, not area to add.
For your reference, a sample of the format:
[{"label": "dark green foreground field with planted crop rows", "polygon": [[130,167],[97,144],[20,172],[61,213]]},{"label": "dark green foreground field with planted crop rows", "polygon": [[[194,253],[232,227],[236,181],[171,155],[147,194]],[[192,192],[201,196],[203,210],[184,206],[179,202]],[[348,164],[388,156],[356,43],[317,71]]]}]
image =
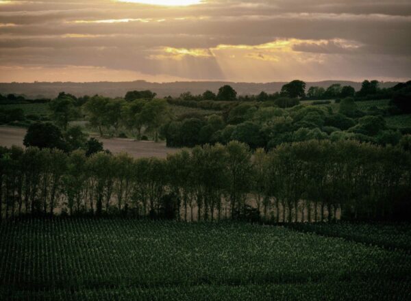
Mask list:
[{"label": "dark green foreground field with planted crop rows", "polygon": [[0,300],[411,298],[407,250],[279,226],[20,220],[0,237]]}]

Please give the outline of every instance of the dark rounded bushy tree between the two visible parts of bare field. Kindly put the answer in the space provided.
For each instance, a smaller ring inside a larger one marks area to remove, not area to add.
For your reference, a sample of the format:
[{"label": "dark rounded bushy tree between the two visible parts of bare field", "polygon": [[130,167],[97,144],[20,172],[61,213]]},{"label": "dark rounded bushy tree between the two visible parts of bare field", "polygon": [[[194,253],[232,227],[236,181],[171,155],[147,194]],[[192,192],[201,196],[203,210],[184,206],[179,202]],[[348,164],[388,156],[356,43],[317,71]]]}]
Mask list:
[{"label": "dark rounded bushy tree between the two visible parts of bare field", "polygon": [[58,148],[61,150],[67,148],[62,132],[51,122],[36,122],[30,125],[23,144],[27,147],[36,146],[38,148]]}]

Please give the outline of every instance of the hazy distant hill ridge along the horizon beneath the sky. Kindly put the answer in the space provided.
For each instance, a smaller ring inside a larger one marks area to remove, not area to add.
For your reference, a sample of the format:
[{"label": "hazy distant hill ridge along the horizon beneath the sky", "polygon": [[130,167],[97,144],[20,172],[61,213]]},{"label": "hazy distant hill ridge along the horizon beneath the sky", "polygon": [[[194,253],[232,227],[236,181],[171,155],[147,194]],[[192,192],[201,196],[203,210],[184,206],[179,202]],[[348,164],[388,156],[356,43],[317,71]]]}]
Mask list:
[{"label": "hazy distant hill ridge along the horizon beneath the sky", "polygon": [[[202,94],[206,90],[217,92],[223,85],[232,86],[240,95],[258,94],[261,91],[273,93],[281,90],[286,82],[273,83],[233,83],[224,81],[176,81],[174,83],[149,83],[148,81],[126,81],[110,82],[101,81],[93,83],[73,83],[73,82],[36,82],[36,83],[0,83],[0,94],[24,94],[27,98],[53,98],[59,92],[71,93],[76,96],[95,95],[103,96],[124,96],[130,90],[151,90],[158,96],[179,96],[182,92],[190,91],[192,94]],[[308,82],[307,89],[311,86],[327,88],[333,83],[340,83],[343,86],[353,86],[360,90],[361,83],[355,81],[318,81]],[[395,86],[397,82],[381,83],[382,88]]]}]

